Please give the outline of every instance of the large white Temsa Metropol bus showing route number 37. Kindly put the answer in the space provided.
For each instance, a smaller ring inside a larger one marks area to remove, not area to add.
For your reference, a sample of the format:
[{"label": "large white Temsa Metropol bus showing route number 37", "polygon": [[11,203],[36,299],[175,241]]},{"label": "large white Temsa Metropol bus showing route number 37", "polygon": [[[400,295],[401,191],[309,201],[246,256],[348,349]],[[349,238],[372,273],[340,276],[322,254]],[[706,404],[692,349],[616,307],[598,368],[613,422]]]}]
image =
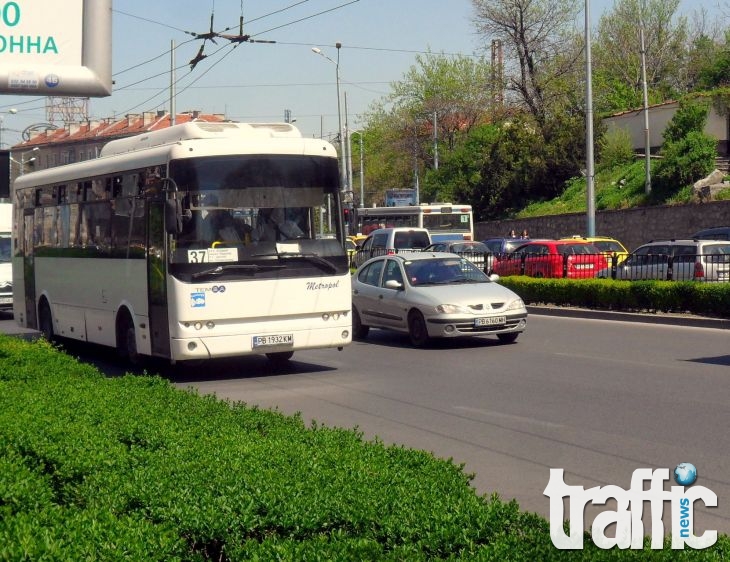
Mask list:
[{"label": "large white Temsa Metropol bus showing route number 37", "polygon": [[[328,197],[342,208],[337,154],[290,124],[191,122],[113,140],[99,158],[24,174],[13,194],[13,311],[49,340],[132,363],[285,362],[352,340],[344,225],[329,239],[315,225]],[[296,232],[257,236],[276,215]],[[214,217],[226,234],[205,226]]]}]

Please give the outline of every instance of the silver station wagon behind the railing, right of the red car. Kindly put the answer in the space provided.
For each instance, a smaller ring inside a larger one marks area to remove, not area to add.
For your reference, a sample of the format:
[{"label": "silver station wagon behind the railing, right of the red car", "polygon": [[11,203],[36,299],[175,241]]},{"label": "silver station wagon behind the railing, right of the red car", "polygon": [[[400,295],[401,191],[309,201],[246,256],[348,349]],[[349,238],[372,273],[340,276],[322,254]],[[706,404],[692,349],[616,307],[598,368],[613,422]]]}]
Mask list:
[{"label": "silver station wagon behind the railing, right of the red car", "polygon": [[[611,269],[597,277],[611,277]],[[730,281],[730,241],[656,240],[639,246],[616,268],[616,279]]]}]

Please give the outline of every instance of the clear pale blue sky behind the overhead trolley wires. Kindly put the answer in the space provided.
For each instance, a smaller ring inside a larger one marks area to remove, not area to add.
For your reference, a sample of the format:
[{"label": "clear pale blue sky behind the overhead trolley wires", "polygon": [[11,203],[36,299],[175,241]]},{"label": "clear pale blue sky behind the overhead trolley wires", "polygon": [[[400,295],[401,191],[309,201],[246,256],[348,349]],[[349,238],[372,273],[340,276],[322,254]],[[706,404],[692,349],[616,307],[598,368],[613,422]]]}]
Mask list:
[{"label": "clear pale blue sky behind the overhead trolley wires", "polygon": [[[682,0],[682,10],[718,10],[727,0]],[[612,0],[593,0],[595,21]],[[205,43],[207,58],[189,61],[214,14],[213,29],[275,43]],[[350,130],[364,126],[369,106],[390,92],[428,51],[489,56],[473,24],[471,0],[113,0],[113,93],[91,98],[89,117],[168,111],[175,44],[175,108],[222,113],[245,122],[283,121],[291,112],[305,136],[331,138],[341,112]],[[341,43],[338,50],[335,44]],[[330,60],[312,51],[321,49]],[[2,55],[0,54],[0,64]],[[3,147],[21,140],[29,125],[48,121],[46,99],[2,95]],[[17,110],[12,112],[11,110]]]}]

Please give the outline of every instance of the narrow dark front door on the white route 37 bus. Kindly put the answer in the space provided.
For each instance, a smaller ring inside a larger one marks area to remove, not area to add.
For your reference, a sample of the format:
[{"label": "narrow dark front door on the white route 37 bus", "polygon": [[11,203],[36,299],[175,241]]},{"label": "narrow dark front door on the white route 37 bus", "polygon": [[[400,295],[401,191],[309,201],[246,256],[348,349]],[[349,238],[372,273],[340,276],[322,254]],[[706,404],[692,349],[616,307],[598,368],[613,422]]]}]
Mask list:
[{"label": "narrow dark front door on the white route 37 bus", "polygon": [[147,209],[147,286],[152,355],[170,357],[167,315],[167,247],[164,201],[150,199]]}]

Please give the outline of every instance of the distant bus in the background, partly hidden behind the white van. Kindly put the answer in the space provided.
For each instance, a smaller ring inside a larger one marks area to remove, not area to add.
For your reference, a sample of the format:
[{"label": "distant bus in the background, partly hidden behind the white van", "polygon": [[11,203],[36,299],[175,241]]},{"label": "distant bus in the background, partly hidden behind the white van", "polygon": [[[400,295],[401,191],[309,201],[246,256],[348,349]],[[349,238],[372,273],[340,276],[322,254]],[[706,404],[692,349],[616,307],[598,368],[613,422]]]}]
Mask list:
[{"label": "distant bus in the background, partly hidden behind the white van", "polygon": [[377,228],[414,226],[426,228],[433,242],[474,240],[471,205],[423,203],[395,207],[357,209],[357,231],[367,235]]}]

